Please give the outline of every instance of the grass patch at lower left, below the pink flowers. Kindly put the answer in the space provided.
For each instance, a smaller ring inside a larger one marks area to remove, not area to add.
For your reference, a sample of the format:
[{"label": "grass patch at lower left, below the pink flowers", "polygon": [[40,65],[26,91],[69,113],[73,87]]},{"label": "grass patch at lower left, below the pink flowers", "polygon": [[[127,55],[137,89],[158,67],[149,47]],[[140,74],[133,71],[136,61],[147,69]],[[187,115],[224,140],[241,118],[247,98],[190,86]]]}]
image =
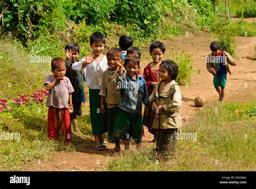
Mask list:
[{"label": "grass patch at lower left, below the pink flowers", "polygon": [[[48,107],[33,103],[22,106],[8,104],[12,109],[0,113],[0,132],[21,133],[21,140],[0,140],[0,171],[21,171],[24,162],[48,160],[52,158],[50,154],[53,151],[73,152],[93,143],[89,114],[78,117],[79,129],[85,136],[73,138],[75,146],[71,147],[48,139]],[[89,112],[89,107],[83,106],[83,112]],[[62,140],[61,134],[59,139]]]}]

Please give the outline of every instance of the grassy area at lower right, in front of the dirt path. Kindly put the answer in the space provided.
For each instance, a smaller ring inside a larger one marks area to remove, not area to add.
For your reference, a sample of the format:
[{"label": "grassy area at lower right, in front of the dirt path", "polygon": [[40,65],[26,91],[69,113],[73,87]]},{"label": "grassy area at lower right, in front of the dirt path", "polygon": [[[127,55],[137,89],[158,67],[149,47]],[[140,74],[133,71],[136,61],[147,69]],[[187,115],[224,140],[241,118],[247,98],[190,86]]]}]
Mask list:
[{"label": "grassy area at lower right, in front of the dirt path", "polygon": [[[178,140],[174,159],[152,160],[153,144],[141,151],[112,157],[107,171],[255,171],[254,102],[209,104],[181,129],[197,132],[197,142]],[[218,110],[218,113],[216,110]],[[179,132],[179,131],[178,131]]]}]

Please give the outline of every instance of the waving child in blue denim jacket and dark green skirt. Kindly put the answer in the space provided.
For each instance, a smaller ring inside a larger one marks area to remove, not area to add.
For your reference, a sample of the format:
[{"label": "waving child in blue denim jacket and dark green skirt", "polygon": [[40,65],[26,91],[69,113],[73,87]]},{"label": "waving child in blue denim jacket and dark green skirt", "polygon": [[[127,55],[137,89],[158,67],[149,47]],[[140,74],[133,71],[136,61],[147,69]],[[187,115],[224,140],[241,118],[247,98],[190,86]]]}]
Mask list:
[{"label": "waving child in blue denim jacket and dark green skirt", "polygon": [[[125,149],[129,149],[130,140],[136,141],[137,147],[142,141],[142,103],[148,104],[146,82],[143,76],[138,75],[139,58],[126,57],[119,65],[117,86],[121,89],[121,103],[118,105],[114,136],[123,139]],[[125,67],[126,73],[123,70]]]}]

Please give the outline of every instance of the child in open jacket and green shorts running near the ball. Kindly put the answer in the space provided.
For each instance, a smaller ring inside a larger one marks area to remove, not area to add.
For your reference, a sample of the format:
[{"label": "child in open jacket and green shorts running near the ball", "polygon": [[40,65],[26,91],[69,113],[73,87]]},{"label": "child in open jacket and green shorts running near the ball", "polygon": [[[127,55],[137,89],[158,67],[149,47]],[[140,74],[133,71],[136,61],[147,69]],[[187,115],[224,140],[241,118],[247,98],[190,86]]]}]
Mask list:
[{"label": "child in open jacket and green shorts running near the ball", "polygon": [[222,102],[225,96],[225,86],[227,80],[227,72],[230,73],[230,65],[236,65],[234,59],[228,52],[220,50],[219,42],[212,42],[210,45],[212,53],[206,58],[206,68],[208,72],[212,73],[213,84],[216,91],[219,93],[219,101]]}]

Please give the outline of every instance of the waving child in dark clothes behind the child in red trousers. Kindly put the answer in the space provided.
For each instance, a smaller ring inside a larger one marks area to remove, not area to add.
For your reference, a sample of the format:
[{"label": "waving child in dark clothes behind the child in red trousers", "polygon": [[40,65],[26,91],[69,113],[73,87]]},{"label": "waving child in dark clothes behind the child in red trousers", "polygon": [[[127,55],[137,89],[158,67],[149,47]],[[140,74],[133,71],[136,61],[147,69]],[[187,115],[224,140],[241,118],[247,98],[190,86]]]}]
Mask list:
[{"label": "waving child in dark clothes behind the child in red trousers", "polygon": [[84,77],[82,71],[72,70],[72,65],[78,62],[79,45],[71,42],[65,46],[66,55],[66,77],[70,79],[70,82],[75,90],[72,93],[73,113],[70,113],[70,119],[72,125],[75,127],[75,132],[81,133],[78,129],[77,116],[82,115],[82,103],[85,102],[84,96]]}]

